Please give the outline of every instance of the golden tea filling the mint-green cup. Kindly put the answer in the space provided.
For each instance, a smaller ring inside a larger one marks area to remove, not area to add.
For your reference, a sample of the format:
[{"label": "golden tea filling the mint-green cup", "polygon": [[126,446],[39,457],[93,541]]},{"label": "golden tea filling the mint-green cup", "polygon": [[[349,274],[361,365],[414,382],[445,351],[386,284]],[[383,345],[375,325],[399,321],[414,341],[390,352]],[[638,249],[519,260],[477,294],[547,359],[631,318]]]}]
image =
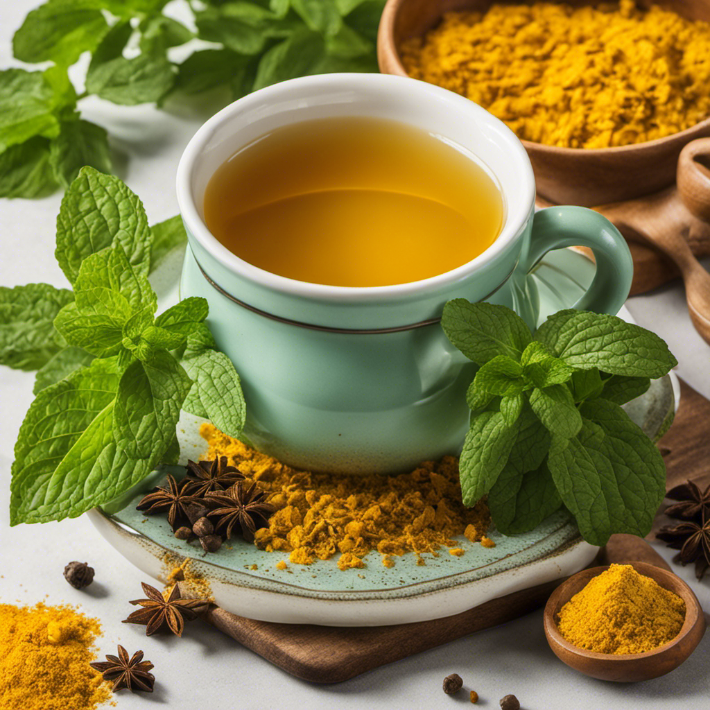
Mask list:
[{"label": "golden tea filling the mint-green cup", "polygon": [[503,198],[475,158],[396,121],[317,119],[241,148],[209,180],[227,249],[310,283],[382,286],[451,271],[498,236]]}]

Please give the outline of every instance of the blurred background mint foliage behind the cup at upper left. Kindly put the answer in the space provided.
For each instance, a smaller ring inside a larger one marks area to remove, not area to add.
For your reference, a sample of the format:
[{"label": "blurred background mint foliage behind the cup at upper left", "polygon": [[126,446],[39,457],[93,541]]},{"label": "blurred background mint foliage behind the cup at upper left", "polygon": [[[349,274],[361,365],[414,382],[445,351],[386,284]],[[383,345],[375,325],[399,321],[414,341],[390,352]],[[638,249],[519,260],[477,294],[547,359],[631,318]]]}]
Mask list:
[{"label": "blurred background mint foliage behind the cup at upper left", "polygon": [[[0,71],[0,197],[47,195],[83,165],[111,172],[106,131],[81,116],[87,95],[160,106],[216,87],[237,99],[297,76],[377,71],[384,0],[205,0],[189,4],[196,32],[165,15],[166,4],[46,0],[28,13],[13,53],[52,66]],[[196,37],[212,47],[176,63],[170,50]],[[91,58],[77,96],[67,68],[84,53]]]}]

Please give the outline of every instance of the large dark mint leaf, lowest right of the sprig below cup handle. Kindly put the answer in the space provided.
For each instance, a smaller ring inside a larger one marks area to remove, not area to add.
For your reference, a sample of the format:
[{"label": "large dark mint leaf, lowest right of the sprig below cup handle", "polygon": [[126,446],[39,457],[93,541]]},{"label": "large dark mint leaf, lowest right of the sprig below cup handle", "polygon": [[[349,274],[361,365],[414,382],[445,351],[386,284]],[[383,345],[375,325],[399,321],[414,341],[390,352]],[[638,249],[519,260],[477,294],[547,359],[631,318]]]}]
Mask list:
[{"label": "large dark mint leaf, lowest right of the sprig below cup handle", "polygon": [[564,505],[592,545],[616,532],[647,535],[665,494],[660,453],[617,405],[596,399],[582,412],[579,435],[548,457]]}]

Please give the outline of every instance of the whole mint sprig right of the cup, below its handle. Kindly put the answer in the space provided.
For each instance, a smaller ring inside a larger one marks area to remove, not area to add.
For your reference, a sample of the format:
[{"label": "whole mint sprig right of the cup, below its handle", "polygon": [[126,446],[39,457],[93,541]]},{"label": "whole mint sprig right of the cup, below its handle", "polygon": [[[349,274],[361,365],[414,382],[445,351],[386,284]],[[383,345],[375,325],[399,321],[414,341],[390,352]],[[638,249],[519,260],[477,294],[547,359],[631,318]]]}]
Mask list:
[{"label": "whole mint sprig right of the cup, below its handle", "polygon": [[665,342],[618,317],[563,310],[533,335],[503,306],[449,301],[442,327],[479,366],[459,464],[464,503],[488,495],[501,532],[564,506],[585,540],[646,535],[665,493],[655,445],[621,409],[677,364]]}]

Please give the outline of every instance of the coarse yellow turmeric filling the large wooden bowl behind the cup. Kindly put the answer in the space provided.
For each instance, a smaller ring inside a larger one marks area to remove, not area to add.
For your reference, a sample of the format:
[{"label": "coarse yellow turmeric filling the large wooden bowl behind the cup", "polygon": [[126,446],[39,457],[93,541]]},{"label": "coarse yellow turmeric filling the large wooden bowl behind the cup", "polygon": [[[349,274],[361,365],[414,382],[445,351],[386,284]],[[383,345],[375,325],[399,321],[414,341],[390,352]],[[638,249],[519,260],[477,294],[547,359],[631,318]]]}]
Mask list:
[{"label": "coarse yellow turmeric filling the large wooden bowl behind the cup", "polygon": [[710,115],[710,23],[633,0],[449,12],[400,48],[408,74],[468,97],[519,138],[608,148]]}]

